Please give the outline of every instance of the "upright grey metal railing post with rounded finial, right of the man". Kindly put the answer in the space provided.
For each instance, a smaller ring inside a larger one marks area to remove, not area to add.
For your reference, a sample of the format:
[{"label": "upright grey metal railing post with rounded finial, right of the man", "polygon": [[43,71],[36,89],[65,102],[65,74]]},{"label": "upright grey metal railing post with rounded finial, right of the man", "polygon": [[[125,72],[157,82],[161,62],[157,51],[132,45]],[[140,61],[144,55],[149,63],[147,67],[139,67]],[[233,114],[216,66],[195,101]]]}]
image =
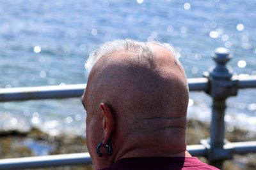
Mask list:
[{"label": "upright grey metal railing post with rounded finial, right of the man", "polygon": [[204,76],[209,79],[207,94],[212,97],[210,139],[202,140],[202,144],[208,150],[209,163],[221,169],[223,160],[232,159],[232,148],[223,150],[223,146],[227,143],[224,117],[226,99],[237,94],[237,80],[233,80],[233,71],[229,66],[226,66],[232,58],[227,48],[217,48],[212,58],[216,62],[216,66],[204,73]]}]

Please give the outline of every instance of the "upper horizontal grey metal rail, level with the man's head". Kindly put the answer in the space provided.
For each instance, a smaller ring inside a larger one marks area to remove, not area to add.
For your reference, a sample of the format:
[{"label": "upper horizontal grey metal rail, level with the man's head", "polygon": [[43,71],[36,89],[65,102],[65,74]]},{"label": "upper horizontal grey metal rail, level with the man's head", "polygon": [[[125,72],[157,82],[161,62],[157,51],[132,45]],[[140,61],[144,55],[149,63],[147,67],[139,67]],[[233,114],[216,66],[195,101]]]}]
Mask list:
[{"label": "upper horizontal grey metal rail, level with the man's head", "polygon": [[[239,77],[237,80],[239,89],[256,87],[256,76]],[[207,91],[209,88],[207,78],[188,78],[188,85],[189,91]],[[86,84],[75,84],[0,89],[0,102],[80,97],[85,87]]]}]

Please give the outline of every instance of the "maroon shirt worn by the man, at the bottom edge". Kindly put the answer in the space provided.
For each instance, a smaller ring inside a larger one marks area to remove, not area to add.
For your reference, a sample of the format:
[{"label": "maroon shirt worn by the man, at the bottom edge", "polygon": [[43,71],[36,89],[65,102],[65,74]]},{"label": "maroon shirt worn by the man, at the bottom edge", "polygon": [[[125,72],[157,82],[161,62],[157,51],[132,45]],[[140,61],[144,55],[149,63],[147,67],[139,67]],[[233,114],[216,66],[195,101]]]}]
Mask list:
[{"label": "maroon shirt worn by the man, at the bottom edge", "polygon": [[115,164],[102,170],[216,170],[216,167],[201,162],[196,157],[131,157],[117,160]]}]

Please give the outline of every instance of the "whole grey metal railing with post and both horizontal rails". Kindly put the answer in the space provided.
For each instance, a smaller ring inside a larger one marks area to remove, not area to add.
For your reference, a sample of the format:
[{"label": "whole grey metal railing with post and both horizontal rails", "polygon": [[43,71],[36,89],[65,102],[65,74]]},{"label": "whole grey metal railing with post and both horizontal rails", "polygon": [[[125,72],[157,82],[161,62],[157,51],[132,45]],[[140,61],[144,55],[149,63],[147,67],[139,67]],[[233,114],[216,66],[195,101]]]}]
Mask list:
[{"label": "whole grey metal railing with post and both horizontal rails", "polygon": [[[212,118],[210,138],[203,139],[201,145],[189,145],[188,152],[193,156],[204,156],[210,164],[221,168],[223,161],[232,159],[234,153],[256,152],[256,141],[230,143],[225,139],[226,99],[236,96],[239,89],[255,88],[256,76],[236,76],[226,66],[232,55],[226,48],[217,48],[212,55],[216,66],[204,73],[204,78],[189,78],[189,91],[204,91],[212,97]],[[86,84],[60,85],[48,87],[23,87],[0,89],[0,102],[25,101],[35,99],[60,99],[80,97]],[[1,159],[0,169],[25,169],[36,167],[54,167],[79,164],[92,164],[88,153],[48,155]]]}]

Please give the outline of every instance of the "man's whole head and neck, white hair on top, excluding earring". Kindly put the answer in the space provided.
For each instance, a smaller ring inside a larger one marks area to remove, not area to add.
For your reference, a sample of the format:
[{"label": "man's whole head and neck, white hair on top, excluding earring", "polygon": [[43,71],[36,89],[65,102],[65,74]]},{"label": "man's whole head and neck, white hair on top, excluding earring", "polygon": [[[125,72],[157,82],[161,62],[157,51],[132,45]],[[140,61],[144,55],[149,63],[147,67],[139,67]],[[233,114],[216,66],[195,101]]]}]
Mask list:
[{"label": "man's whole head and neck, white hair on top, excluding earring", "polygon": [[[186,151],[188,83],[172,46],[112,41],[92,52],[86,69],[86,140],[96,169],[124,157]],[[102,149],[98,157],[101,140],[112,145],[113,155]]]}]

